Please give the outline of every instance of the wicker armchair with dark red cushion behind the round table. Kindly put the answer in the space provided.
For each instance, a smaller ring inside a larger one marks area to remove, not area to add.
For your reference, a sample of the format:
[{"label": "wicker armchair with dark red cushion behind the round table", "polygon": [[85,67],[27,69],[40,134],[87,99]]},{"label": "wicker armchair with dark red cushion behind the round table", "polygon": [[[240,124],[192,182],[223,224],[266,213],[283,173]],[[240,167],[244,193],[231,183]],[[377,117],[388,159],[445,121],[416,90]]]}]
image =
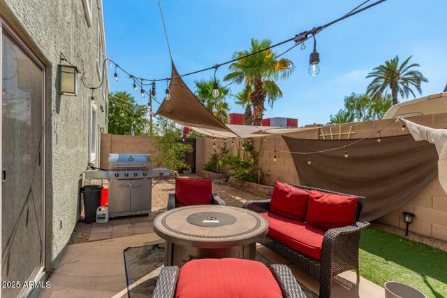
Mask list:
[{"label": "wicker armchair with dark red cushion behind the round table", "polygon": [[175,194],[169,194],[168,210],[192,205],[225,205],[219,195],[212,192],[211,179],[175,179]]}]

